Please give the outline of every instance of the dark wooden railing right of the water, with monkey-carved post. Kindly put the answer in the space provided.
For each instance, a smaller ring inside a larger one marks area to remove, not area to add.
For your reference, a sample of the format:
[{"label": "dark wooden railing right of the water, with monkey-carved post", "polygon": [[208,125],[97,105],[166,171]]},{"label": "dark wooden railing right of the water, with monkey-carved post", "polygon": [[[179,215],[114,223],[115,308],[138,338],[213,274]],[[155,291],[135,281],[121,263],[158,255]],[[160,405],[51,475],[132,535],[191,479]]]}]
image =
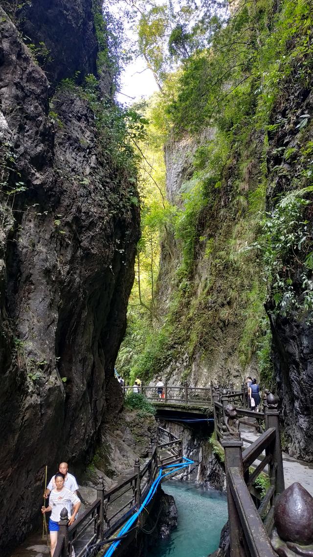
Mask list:
[{"label": "dark wooden railing right of the water, with monkey-carved post", "polygon": [[[279,413],[275,408],[265,412],[251,412],[237,408],[237,418],[256,427],[241,417],[253,417],[263,422],[265,431],[243,451],[240,434],[229,434],[222,429],[226,406],[214,402],[217,438],[224,448],[227,481],[229,540],[232,557],[274,557],[268,534],[273,527],[273,509],[277,495],[285,489],[280,445]],[[222,418],[221,418],[222,415]],[[258,424],[257,424],[258,427]],[[265,456],[262,453],[265,451]],[[253,482],[267,467],[270,487],[265,496],[258,494]]]}]

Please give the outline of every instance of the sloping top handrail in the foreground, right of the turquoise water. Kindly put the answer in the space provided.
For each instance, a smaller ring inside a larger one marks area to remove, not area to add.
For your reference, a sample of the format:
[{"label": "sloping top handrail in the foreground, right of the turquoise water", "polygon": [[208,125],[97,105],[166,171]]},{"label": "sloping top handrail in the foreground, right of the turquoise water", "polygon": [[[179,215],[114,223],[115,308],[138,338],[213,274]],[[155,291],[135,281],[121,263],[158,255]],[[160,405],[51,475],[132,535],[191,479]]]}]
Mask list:
[{"label": "sloping top handrail in the foreground, right of the turquoise water", "polygon": [[228,468],[227,481],[251,557],[277,557],[239,468]]}]

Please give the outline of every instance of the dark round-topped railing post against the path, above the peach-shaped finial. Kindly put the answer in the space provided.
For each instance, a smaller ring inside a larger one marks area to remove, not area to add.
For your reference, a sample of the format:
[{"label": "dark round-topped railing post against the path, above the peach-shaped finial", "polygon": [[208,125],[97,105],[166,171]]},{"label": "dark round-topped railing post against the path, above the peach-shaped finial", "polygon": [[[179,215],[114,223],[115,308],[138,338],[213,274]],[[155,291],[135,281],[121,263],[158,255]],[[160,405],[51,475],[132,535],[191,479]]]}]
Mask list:
[{"label": "dark round-topped railing post against the path, above the peach-shaped finial", "polygon": [[271,485],[275,482],[275,495],[279,495],[285,490],[285,480],[283,477],[283,465],[282,465],[282,452],[280,444],[280,423],[279,423],[279,412],[276,408],[270,408],[266,406],[265,411],[265,426],[266,429],[269,427],[275,427],[276,436],[275,442],[271,446],[272,453],[272,464],[270,464],[270,481]]}]

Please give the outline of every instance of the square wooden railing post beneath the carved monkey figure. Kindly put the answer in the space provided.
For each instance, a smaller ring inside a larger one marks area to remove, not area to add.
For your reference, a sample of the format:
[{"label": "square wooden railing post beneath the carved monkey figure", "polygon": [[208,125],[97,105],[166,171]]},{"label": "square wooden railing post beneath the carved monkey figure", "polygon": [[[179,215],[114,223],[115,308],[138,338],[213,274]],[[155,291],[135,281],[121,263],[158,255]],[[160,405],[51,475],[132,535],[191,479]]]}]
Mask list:
[{"label": "square wooden railing post beneath the carved monkey figure", "polygon": [[[242,446],[243,442],[240,437],[234,437],[231,435],[225,436],[222,441],[222,446],[224,448],[225,455],[225,471],[226,480],[227,470],[230,467],[239,468],[242,474]],[[245,557],[243,547],[241,545],[242,539],[242,527],[239,519],[239,515],[236,508],[236,503],[234,502],[231,488],[227,481],[227,506],[228,506],[228,524],[229,524],[229,540],[230,540],[230,551],[231,557]]]}]

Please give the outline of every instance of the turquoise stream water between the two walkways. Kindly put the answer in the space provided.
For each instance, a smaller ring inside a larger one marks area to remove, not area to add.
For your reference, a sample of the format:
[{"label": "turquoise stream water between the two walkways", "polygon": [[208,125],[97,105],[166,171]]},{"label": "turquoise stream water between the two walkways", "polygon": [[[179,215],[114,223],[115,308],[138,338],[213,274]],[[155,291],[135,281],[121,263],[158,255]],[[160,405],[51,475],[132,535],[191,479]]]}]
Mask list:
[{"label": "turquoise stream water between the two walkways", "polygon": [[175,499],[178,527],[148,557],[208,557],[218,548],[227,521],[226,497],[188,482],[169,481],[162,488]]}]

